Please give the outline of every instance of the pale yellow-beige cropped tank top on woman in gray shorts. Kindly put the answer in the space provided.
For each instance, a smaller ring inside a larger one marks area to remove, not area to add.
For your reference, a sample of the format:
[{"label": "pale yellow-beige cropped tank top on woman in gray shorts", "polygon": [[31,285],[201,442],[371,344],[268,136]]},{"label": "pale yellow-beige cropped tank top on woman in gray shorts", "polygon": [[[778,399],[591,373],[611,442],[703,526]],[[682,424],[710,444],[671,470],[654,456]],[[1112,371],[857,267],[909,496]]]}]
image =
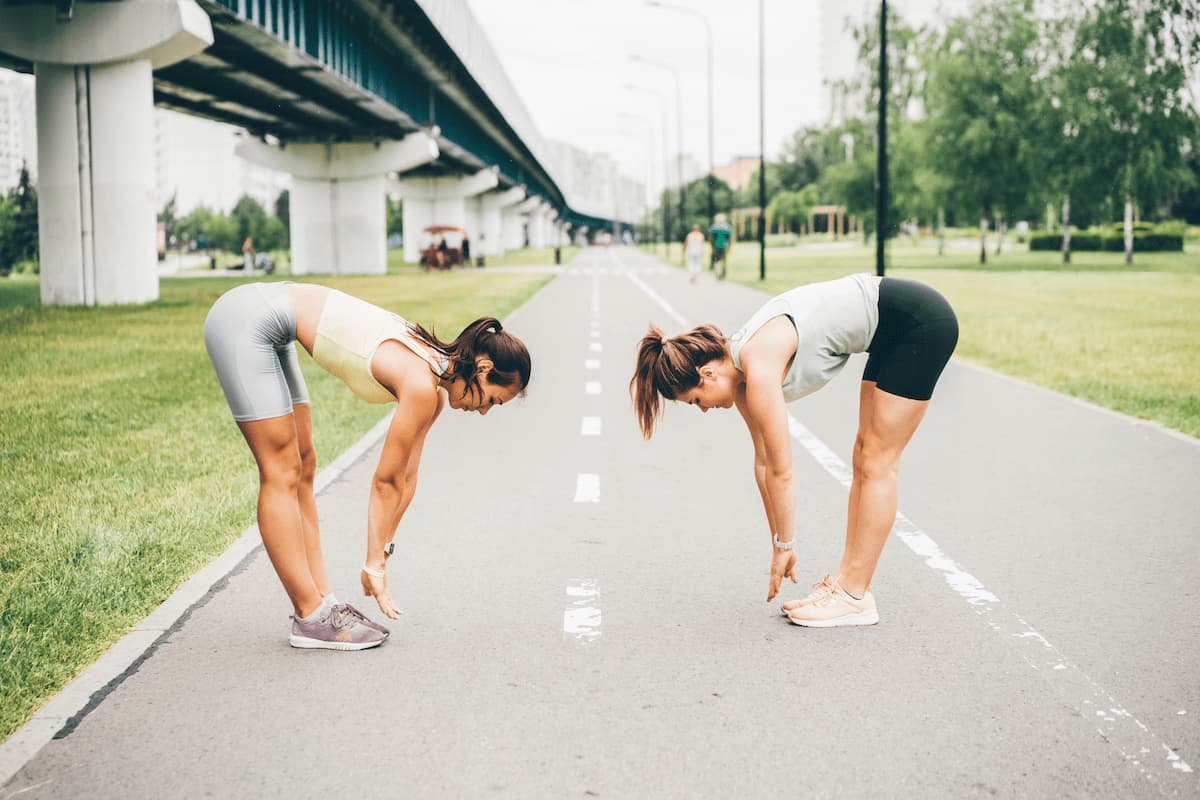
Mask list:
[{"label": "pale yellow-beige cropped tank top on woman in gray shorts", "polygon": [[317,321],[313,361],[368,403],[391,403],[396,397],[371,374],[371,360],[379,345],[395,339],[430,365],[442,377],[450,360],[418,339],[408,320],[390,311],[331,289]]}]

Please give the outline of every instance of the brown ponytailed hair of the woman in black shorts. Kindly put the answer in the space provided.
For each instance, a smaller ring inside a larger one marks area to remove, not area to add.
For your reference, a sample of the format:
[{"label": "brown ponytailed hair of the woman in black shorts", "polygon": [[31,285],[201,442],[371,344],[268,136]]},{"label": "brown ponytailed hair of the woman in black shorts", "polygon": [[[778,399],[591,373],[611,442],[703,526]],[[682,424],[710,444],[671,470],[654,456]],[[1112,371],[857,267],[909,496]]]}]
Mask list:
[{"label": "brown ponytailed hair of the woman in black shorts", "polygon": [[701,325],[667,338],[658,325],[637,345],[637,366],[629,381],[634,413],[642,435],[649,439],[662,414],[662,399],[674,399],[700,385],[700,368],[728,355],[725,337],[713,325]]}]

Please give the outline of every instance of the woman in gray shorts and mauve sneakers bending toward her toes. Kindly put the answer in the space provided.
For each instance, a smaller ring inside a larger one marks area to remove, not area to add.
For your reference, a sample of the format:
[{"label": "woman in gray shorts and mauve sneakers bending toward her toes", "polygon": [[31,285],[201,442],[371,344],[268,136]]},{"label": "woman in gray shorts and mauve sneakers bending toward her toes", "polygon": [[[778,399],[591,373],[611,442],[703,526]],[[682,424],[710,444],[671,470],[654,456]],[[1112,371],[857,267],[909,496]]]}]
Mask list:
[{"label": "woman in gray shorts and mauve sneakers bending toward her toes", "polygon": [[371,482],[364,594],[390,619],[386,559],[416,491],[430,427],[450,408],[487,414],[529,384],[526,345],[491,317],[443,342],[420,325],[336,289],[247,283],[221,295],[204,344],[258,463],[258,529],[294,608],[290,644],[361,650],[388,630],[330,591],[317,523],[312,409],[293,342],[368,403],[396,403]]}]

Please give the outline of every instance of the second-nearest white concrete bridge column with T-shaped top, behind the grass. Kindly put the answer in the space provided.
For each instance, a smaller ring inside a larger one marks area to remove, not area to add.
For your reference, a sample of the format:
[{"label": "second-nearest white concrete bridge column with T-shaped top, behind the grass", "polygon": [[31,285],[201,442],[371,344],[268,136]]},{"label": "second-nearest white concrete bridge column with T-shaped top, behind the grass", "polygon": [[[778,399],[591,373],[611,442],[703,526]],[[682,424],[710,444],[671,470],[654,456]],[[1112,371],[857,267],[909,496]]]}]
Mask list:
[{"label": "second-nearest white concrete bridge column with T-shaped top, behind the grass", "polygon": [[[385,176],[436,160],[438,145],[425,132],[398,142],[286,148],[244,138],[236,152],[247,161],[292,174],[293,275],[384,275]],[[407,205],[404,213],[407,219]],[[404,234],[407,251],[407,227]]]}]

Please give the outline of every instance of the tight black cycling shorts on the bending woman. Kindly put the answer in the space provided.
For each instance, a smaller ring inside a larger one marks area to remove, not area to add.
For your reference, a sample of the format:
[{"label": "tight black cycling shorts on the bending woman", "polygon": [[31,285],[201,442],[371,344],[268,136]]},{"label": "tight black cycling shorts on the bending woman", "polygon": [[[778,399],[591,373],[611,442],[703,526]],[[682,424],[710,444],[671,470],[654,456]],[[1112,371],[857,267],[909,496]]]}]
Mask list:
[{"label": "tight black cycling shorts on the bending woman", "polygon": [[959,343],[959,320],[941,294],[901,278],[880,282],[880,326],[863,380],[889,395],[928,401]]}]

